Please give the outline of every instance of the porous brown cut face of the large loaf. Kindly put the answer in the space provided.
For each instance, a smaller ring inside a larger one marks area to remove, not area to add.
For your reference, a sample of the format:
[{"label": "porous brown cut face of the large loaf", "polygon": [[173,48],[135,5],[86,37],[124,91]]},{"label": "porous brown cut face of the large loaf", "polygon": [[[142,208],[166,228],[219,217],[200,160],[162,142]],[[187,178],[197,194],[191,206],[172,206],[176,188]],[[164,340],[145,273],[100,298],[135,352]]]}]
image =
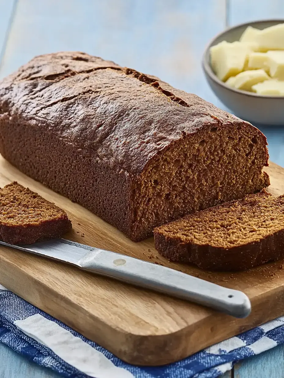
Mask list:
[{"label": "porous brown cut face of the large loaf", "polygon": [[255,127],[212,125],[188,135],[147,166],[132,191],[132,239],[186,214],[269,186],[265,136]]}]

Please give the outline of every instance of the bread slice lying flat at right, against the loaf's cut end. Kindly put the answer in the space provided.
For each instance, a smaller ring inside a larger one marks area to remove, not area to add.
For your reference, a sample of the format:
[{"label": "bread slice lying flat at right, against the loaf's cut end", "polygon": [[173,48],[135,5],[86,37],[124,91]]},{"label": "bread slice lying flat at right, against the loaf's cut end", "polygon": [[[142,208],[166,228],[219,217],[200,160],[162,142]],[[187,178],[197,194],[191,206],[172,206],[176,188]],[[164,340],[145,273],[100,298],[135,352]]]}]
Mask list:
[{"label": "bread slice lying flat at right, against the loaf's cut end", "polygon": [[258,194],[155,228],[155,247],[172,261],[209,270],[246,270],[284,258],[284,195]]}]

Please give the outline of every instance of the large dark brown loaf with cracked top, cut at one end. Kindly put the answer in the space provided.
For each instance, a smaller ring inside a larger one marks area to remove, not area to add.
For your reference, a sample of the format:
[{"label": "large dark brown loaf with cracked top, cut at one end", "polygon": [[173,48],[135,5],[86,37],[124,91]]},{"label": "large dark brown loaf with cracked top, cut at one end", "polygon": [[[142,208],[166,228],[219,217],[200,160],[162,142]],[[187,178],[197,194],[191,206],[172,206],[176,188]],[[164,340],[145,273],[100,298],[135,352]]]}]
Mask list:
[{"label": "large dark brown loaf with cracked top, cut at one end", "polygon": [[258,129],[88,54],[32,59],[0,83],[0,113],[10,163],[135,241],[269,185]]}]

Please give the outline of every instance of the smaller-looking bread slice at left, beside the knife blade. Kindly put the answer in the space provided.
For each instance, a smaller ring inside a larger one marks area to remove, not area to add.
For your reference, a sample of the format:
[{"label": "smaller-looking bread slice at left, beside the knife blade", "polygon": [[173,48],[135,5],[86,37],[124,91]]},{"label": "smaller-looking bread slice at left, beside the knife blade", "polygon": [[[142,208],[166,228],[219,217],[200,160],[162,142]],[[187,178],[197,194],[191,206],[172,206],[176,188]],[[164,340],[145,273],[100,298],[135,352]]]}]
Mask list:
[{"label": "smaller-looking bread slice at left, beside the knife blade", "polygon": [[72,228],[67,214],[17,182],[0,189],[0,240],[31,244],[61,237]]}]

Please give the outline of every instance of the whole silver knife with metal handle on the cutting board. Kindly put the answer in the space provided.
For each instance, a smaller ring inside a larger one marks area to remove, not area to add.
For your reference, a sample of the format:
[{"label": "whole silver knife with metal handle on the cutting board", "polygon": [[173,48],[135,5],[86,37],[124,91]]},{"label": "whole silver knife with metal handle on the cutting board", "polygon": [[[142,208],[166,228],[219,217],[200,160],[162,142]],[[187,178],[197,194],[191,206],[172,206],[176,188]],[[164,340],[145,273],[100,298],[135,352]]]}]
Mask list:
[{"label": "whole silver knife with metal handle on the cutting board", "polygon": [[0,244],[211,307],[235,318],[246,318],[251,311],[250,300],[242,291],[216,285],[134,257],[65,239],[53,239],[23,246],[1,241]]}]

